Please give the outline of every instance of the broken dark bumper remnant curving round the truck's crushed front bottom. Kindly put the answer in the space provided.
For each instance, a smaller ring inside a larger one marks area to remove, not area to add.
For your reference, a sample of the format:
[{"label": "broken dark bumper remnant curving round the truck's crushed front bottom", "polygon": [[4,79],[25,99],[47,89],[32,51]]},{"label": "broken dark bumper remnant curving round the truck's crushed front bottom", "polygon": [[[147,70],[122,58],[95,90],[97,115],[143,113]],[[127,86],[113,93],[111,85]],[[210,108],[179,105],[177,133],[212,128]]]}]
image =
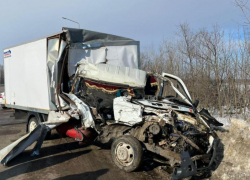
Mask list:
[{"label": "broken dark bumper remnant curving round the truck's crushed front bottom", "polygon": [[173,180],[178,180],[181,178],[186,178],[190,176],[194,176],[197,173],[202,173],[210,169],[211,165],[213,164],[215,157],[217,155],[217,147],[219,145],[219,139],[215,138],[213,142],[213,153],[210,159],[210,162],[206,167],[197,168],[194,162],[191,160],[190,155],[188,152],[183,151],[181,153],[181,166],[179,168],[175,168],[172,174]]}]

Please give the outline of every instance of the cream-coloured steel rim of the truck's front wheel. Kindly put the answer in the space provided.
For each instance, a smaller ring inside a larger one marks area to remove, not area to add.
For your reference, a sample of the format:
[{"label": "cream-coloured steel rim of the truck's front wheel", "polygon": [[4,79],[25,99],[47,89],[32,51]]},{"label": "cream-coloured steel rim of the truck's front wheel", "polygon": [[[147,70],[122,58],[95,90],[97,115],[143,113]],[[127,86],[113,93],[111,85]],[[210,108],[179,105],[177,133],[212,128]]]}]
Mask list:
[{"label": "cream-coloured steel rim of the truck's front wheel", "polygon": [[134,160],[134,150],[130,144],[120,142],[115,148],[116,159],[123,166],[129,166]]}]

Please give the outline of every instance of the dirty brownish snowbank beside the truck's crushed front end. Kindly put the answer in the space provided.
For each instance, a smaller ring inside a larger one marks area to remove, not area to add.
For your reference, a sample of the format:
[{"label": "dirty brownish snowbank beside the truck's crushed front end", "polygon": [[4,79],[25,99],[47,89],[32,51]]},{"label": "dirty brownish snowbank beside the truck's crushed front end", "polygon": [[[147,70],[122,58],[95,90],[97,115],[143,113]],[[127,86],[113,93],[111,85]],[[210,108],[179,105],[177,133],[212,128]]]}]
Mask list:
[{"label": "dirty brownish snowbank beside the truck's crushed front end", "polygon": [[222,140],[224,151],[218,169],[210,180],[249,180],[250,179],[250,123],[242,119],[219,118],[228,132],[217,132]]}]

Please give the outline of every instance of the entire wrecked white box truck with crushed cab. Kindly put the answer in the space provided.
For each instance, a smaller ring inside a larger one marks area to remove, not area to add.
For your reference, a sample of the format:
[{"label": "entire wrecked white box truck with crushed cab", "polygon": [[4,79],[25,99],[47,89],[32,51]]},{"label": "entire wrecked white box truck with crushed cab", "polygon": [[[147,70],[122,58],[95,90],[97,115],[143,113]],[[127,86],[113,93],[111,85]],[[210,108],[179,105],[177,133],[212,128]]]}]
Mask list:
[{"label": "entire wrecked white box truck with crushed cab", "polygon": [[[198,112],[181,79],[139,69],[139,42],[83,29],[4,50],[5,106],[25,113],[27,134],[0,151],[1,163],[51,129],[80,143],[112,143],[114,163],[130,172],[151,152],[173,179],[201,174],[215,162],[222,126]],[[177,86],[176,86],[177,85]],[[166,96],[166,87],[175,96]]]}]

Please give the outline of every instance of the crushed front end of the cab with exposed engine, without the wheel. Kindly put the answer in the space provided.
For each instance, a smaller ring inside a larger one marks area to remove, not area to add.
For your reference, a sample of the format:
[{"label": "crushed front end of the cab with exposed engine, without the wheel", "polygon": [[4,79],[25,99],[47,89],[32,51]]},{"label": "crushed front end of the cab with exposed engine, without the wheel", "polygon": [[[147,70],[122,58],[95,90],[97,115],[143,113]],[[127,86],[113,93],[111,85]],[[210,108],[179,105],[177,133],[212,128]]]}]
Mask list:
[{"label": "crushed front end of the cab with exposed engine, without the wheel", "polygon": [[[207,110],[198,112],[198,102],[191,103],[188,91],[187,98],[182,97],[184,101],[173,96],[147,99],[143,89],[84,82],[82,78],[77,82],[75,95],[91,107],[98,141],[108,143],[124,135],[135,137],[145,150],[175,168],[173,177],[177,179],[211,165],[216,134],[210,124],[221,124]],[[157,89],[151,90],[155,93]]]}]

